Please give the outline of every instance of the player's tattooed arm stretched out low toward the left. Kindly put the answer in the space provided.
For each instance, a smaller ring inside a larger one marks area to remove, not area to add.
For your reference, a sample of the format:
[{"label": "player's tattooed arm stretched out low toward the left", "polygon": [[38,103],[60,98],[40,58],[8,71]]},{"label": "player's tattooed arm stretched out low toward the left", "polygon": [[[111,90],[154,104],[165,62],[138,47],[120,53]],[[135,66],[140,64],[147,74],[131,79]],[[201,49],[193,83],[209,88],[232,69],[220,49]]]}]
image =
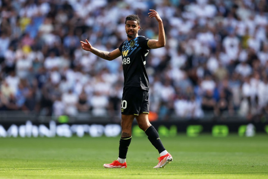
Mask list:
[{"label": "player's tattooed arm stretched out low toward the left", "polygon": [[113,50],[112,52],[107,52],[107,51],[98,50],[98,49],[92,47],[87,39],[85,42],[80,41],[80,43],[81,43],[81,47],[83,50],[90,51],[91,53],[94,53],[98,57],[103,58],[105,60],[111,61],[111,60],[121,56],[121,52],[118,48],[116,50]]}]

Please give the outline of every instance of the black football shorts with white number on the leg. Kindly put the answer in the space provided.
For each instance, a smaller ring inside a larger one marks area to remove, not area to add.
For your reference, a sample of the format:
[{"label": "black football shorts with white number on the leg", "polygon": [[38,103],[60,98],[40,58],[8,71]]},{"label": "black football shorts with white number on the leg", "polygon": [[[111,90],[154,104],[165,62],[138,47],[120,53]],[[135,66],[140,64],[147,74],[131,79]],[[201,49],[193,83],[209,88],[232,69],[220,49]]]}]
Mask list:
[{"label": "black football shorts with white number on the leg", "polygon": [[149,92],[141,87],[124,87],[121,102],[121,114],[149,114]]}]

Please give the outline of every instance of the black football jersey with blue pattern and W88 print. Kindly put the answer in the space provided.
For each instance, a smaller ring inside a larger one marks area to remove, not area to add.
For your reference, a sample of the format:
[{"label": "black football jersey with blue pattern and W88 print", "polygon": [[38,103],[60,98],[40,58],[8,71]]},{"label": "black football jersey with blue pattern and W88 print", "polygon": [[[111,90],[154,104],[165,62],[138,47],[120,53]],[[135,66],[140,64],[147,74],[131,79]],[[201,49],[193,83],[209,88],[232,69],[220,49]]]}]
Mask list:
[{"label": "black football jersey with blue pattern and W88 print", "polygon": [[141,87],[149,91],[149,79],[145,69],[145,57],[149,53],[148,38],[138,36],[126,40],[120,46],[124,71],[124,87]]}]

